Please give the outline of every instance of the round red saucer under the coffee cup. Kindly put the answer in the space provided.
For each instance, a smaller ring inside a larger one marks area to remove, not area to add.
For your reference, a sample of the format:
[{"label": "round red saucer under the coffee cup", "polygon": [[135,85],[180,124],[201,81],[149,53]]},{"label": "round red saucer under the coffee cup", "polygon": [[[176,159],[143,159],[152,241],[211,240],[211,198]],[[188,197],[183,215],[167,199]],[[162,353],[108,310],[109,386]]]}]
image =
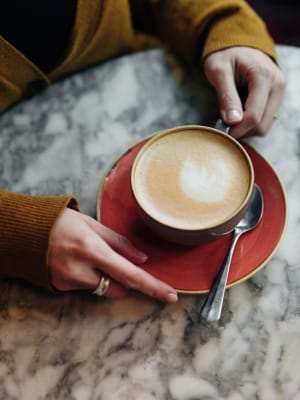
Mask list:
[{"label": "round red saucer under the coffee cup", "polygon": [[[134,157],[148,139],[124,153],[100,184],[97,217],[101,223],[126,236],[148,255],[141,268],[182,293],[207,292],[230,245],[231,234],[197,247],[168,243],[153,234],[136,213],[130,190]],[[264,215],[259,226],[244,234],[233,255],[228,286],[248,279],[270,260],[285,229],[287,204],[282,184],[271,165],[244,144],[264,196]]]}]

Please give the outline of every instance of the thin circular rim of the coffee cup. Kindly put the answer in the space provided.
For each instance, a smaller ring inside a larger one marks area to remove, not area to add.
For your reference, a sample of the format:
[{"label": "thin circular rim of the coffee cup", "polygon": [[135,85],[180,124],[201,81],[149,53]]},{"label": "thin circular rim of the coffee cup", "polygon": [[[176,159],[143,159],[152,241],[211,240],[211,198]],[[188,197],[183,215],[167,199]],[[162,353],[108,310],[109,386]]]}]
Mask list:
[{"label": "thin circular rim of the coffee cup", "polygon": [[[245,160],[247,161],[247,165],[249,168],[249,188],[248,188],[248,193],[245,196],[243,202],[239,205],[239,207],[237,209],[234,210],[233,213],[231,213],[229,216],[227,216],[225,219],[221,220],[218,224],[213,224],[213,225],[208,225],[206,227],[202,227],[202,228],[181,228],[178,226],[173,226],[170,224],[167,224],[161,220],[159,220],[158,218],[153,217],[141,204],[141,202],[139,201],[139,197],[137,195],[136,192],[136,187],[134,184],[134,176],[135,176],[135,171],[137,168],[137,164],[140,160],[140,158],[142,157],[142,155],[145,153],[145,151],[148,150],[149,147],[152,146],[153,143],[157,142],[157,140],[160,140],[161,137],[173,134],[175,132],[180,132],[180,131],[184,131],[184,130],[190,130],[190,129],[195,129],[195,130],[206,130],[212,133],[215,133],[219,136],[222,136],[224,138],[226,138],[226,140],[229,140],[234,146],[236,146],[240,152],[243,154]],[[224,224],[227,224],[228,221],[232,220],[235,216],[237,216],[242,210],[243,208],[245,208],[249,202],[249,199],[252,195],[252,191],[253,191],[253,187],[254,187],[254,167],[251,161],[250,156],[248,155],[246,149],[242,146],[242,144],[235,139],[233,136],[230,136],[230,134],[221,131],[220,129],[216,129],[214,127],[210,127],[207,125],[180,125],[180,126],[176,126],[174,128],[169,128],[169,129],[164,129],[163,131],[159,131],[154,133],[152,136],[150,136],[150,139],[142,146],[142,148],[138,151],[132,166],[131,166],[131,172],[130,172],[130,186],[131,186],[131,191],[133,194],[133,197],[136,201],[136,203],[138,204],[138,207],[143,211],[143,213],[145,213],[150,219],[152,219],[153,221],[156,221],[156,223],[160,224],[161,226],[165,226],[169,229],[172,229],[174,231],[186,231],[186,232],[205,232],[211,229],[218,229],[219,227],[221,227]]]}]

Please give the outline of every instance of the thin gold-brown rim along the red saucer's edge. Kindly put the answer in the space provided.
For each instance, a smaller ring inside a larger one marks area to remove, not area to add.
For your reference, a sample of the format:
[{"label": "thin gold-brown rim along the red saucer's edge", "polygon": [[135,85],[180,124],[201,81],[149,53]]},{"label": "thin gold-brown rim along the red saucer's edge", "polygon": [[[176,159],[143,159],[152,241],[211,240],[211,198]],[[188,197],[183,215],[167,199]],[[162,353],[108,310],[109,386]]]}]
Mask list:
[{"label": "thin gold-brown rim along the red saucer's edge", "polygon": [[[130,145],[130,147],[125,150],[123,153],[121,153],[119,156],[117,156],[109,165],[108,167],[105,169],[104,175],[102,176],[102,179],[100,180],[99,186],[98,186],[98,190],[97,190],[97,199],[96,199],[96,219],[97,221],[101,222],[101,216],[100,216],[100,210],[101,210],[101,193],[103,192],[103,188],[105,183],[107,182],[107,180],[109,179],[109,175],[111,174],[112,170],[118,165],[118,162],[126,155],[128,154],[130,151],[132,151],[136,146],[140,145],[142,142],[147,142],[147,140],[150,140],[152,136],[154,136],[154,134],[146,136],[144,138],[142,138],[141,140],[136,141],[135,143],[133,143],[132,145]],[[285,187],[281,181],[281,178],[279,177],[278,173],[275,171],[273,165],[266,159],[266,157],[264,157],[260,151],[258,151],[256,148],[254,148],[251,144],[249,144],[248,142],[244,142],[243,140],[240,141],[240,144],[242,146],[246,145],[249,148],[251,148],[251,151],[255,152],[256,154],[259,155],[259,157],[261,157],[263,159],[263,161],[269,166],[269,168],[271,169],[272,173],[274,174],[275,178],[278,181],[278,187],[280,188],[281,192],[282,192],[282,197],[283,197],[283,205],[284,205],[284,223],[283,223],[283,227],[282,230],[280,232],[280,237],[278,238],[278,241],[276,243],[276,245],[274,246],[274,249],[269,253],[269,255],[267,256],[267,258],[259,265],[257,265],[250,273],[248,273],[247,275],[243,276],[241,279],[238,279],[234,282],[231,282],[229,284],[226,285],[226,289],[231,288],[235,285],[238,285],[240,283],[245,282],[246,280],[250,279],[253,275],[255,275],[257,272],[259,272],[261,269],[263,269],[266,264],[271,260],[271,258],[273,257],[273,255],[276,253],[276,251],[278,250],[278,247],[280,246],[282,239],[284,237],[285,231],[286,231],[286,227],[287,227],[287,221],[288,221],[288,204],[287,204],[287,195],[286,195],[286,190]],[[179,294],[205,294],[208,293],[210,291],[210,289],[198,289],[198,290],[188,290],[188,289],[179,289],[179,288],[175,288],[175,290],[177,291],[177,293]]]}]

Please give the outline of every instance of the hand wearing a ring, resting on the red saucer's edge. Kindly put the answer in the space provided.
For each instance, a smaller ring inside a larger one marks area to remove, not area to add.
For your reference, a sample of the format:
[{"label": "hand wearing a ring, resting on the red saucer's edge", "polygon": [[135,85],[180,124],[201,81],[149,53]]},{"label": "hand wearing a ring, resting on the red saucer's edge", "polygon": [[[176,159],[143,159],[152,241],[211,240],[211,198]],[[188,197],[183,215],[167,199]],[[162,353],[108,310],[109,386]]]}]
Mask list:
[{"label": "hand wearing a ring, resting on the red saucer's edge", "polygon": [[50,236],[48,264],[58,290],[95,290],[103,274],[110,278],[105,296],[120,298],[135,289],[173,303],[176,290],[135,264],[147,256],[123,236],[84,214],[65,209]]}]

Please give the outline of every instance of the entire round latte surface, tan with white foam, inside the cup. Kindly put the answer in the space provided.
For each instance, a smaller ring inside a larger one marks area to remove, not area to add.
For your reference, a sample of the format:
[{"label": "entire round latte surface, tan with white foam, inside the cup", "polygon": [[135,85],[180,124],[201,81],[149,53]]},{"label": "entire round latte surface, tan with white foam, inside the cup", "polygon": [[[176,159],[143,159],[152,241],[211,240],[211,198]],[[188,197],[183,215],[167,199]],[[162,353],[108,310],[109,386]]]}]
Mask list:
[{"label": "entire round latte surface, tan with white foam, inside the cup", "polygon": [[156,221],[177,229],[206,229],[237,212],[249,192],[249,165],[235,143],[211,131],[166,134],[142,152],[134,192]]}]

